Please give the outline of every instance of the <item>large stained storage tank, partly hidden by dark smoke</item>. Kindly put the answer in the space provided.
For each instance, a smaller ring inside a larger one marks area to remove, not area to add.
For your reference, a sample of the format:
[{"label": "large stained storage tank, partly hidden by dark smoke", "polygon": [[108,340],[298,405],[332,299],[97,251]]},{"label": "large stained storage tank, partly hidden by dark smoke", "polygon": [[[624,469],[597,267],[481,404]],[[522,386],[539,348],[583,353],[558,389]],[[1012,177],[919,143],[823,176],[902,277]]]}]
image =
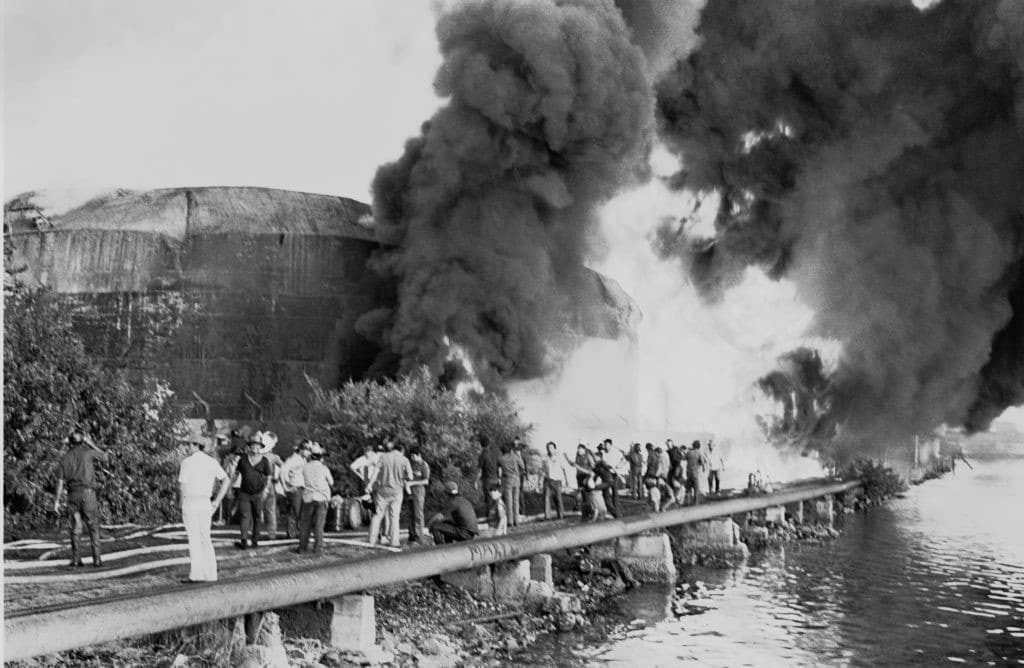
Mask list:
[{"label": "large stained storage tank, partly hidden by dark smoke", "polygon": [[[368,267],[379,244],[366,204],[260,187],[115,191],[60,208],[47,195],[4,206],[26,279],[75,298],[90,354],[196,391],[214,417],[254,417],[245,392],[266,419],[301,419],[304,375],[336,386],[379,352],[355,329],[394,301]],[[588,292],[577,327],[632,339],[622,289],[595,274]]]}]

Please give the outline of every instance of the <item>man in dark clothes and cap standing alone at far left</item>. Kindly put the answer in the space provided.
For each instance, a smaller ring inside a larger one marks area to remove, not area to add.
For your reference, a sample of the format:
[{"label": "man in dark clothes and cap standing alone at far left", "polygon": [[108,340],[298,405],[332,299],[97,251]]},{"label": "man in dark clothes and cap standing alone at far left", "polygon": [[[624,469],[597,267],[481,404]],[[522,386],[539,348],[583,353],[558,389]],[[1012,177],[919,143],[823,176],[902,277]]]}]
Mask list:
[{"label": "man in dark clothes and cap standing alone at far left", "polygon": [[82,537],[82,523],[89,530],[89,545],[92,547],[92,566],[102,566],[99,547],[99,502],[96,500],[96,472],[93,462],[98,458],[104,462],[110,456],[100,450],[88,435],[75,429],[68,436],[71,445],[60,459],[57,477],[56,498],[53,512],[60,511],[60,493],[68,485],[68,528],[71,531],[71,566],[82,565],[79,541]]}]

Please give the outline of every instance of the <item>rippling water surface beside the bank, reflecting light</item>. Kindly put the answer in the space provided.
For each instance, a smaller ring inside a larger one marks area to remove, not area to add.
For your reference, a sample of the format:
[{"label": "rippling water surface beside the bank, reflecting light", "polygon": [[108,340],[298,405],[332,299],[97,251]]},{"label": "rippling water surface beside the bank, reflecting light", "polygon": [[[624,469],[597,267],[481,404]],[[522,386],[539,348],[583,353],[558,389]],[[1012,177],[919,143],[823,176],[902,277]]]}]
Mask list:
[{"label": "rippling water surface beside the bank, reflecting light", "polygon": [[[845,535],[828,544],[791,544],[732,571],[690,570],[680,587],[627,592],[615,606],[629,630],[561,635],[529,659],[1024,665],[1024,459],[972,463],[887,508],[846,515]],[[695,587],[695,597],[683,592]]]}]

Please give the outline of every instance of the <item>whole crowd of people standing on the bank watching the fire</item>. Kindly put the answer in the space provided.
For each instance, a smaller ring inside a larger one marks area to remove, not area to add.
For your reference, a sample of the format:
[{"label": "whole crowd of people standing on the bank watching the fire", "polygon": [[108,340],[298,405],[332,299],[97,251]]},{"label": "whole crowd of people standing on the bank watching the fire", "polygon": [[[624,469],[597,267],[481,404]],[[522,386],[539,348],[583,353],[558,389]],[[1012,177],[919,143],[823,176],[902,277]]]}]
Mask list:
[{"label": "whole crowd of people standing on the bank watching the fire", "polygon": [[[59,509],[67,487],[72,565],[82,566],[84,525],[93,563],[101,566],[93,462],[104,459],[106,453],[81,430],[74,431],[68,442],[71,447],[60,463],[54,510]],[[580,443],[574,457],[549,442],[540,466],[532,467],[527,467],[527,460],[536,458],[521,439],[498,445],[480,435],[477,445],[478,466],[472,484],[484,499],[489,533],[496,536],[522,520],[522,491],[531,474],[540,476],[546,519],[564,517],[565,497],[569,496],[584,520],[597,521],[620,515],[624,491],[653,511],[699,503],[708,492],[720,491],[725,468],[711,440],[707,447],[693,441],[688,448],[676,446],[671,439],[665,447],[634,443],[623,451],[606,439],[593,449]],[[299,441],[285,460],[275,454],[276,446],[278,437],[265,429],[247,436],[238,431],[218,434],[212,443],[187,442],[189,452],[178,472],[181,519],[191,562],[185,582],[217,579],[211,525],[226,524],[236,515],[240,531],[236,545],[240,549],[258,547],[261,536],[275,540],[281,511],[285,534],[298,541],[296,552],[309,551],[310,538],[312,551],[323,552],[329,509],[340,513],[344,506],[339,493],[348,472],[332,471],[324,462],[324,447],[314,441]],[[222,458],[218,458],[220,454]],[[457,481],[443,483],[442,507],[426,518],[431,468],[418,447],[403,448],[393,439],[377,446],[368,444],[350,463],[349,472],[361,492],[357,501],[370,514],[370,544],[399,547],[399,523],[407,502],[410,543],[425,542],[427,536],[434,544],[459,542],[481,533],[476,510]]]}]

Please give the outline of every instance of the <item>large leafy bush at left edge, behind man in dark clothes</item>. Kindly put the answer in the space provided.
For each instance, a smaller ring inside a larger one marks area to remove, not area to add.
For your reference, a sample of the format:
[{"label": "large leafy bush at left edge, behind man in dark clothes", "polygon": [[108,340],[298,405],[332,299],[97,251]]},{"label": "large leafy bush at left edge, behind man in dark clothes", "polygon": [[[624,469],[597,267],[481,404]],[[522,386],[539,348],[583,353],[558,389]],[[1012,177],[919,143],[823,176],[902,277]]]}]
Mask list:
[{"label": "large leafy bush at left edge, behind man in dark clothes", "polygon": [[[5,251],[6,251],[5,244]],[[130,382],[86,357],[73,306],[4,274],[4,531],[53,528],[53,491],[63,439],[78,427],[110,448],[96,476],[104,521],[164,521],[178,515],[178,445],[183,414],[167,386]]]}]

